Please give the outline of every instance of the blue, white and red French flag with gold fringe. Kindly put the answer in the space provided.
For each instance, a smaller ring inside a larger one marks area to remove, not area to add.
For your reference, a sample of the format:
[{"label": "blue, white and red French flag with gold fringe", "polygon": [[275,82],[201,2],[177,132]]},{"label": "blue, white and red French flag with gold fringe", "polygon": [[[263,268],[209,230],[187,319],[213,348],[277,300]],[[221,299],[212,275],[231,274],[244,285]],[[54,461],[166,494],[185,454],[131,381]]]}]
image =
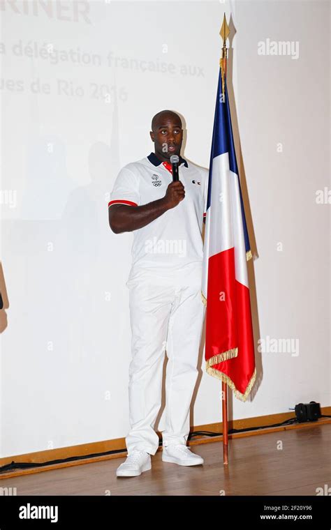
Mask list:
[{"label": "blue, white and red French flag with gold fringe", "polygon": [[205,361],[209,375],[246,401],[256,379],[247,261],[251,259],[233,142],[226,73],[217,87],[201,294],[206,305]]}]

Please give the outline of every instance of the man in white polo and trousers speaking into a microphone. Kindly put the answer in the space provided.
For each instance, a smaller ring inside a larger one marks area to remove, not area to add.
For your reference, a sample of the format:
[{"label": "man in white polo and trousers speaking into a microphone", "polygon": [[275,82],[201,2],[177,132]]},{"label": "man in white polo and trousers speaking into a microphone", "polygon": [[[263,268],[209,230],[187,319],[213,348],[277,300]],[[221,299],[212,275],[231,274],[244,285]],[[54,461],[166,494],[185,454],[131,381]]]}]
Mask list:
[{"label": "man in white polo and trousers speaking into a microphone", "polygon": [[[198,377],[198,352],[205,306],[201,298],[203,216],[208,171],[180,155],[182,121],[163,110],[152,119],[154,153],[121,169],[110,202],[115,234],[134,232],[128,282],[131,353],[128,456],[117,476],[151,469],[159,447],[154,431],[161,407],[164,351],[165,430],[163,462],[203,464],[186,446],[189,411]],[[179,181],[172,182],[170,156],[179,156]]]}]

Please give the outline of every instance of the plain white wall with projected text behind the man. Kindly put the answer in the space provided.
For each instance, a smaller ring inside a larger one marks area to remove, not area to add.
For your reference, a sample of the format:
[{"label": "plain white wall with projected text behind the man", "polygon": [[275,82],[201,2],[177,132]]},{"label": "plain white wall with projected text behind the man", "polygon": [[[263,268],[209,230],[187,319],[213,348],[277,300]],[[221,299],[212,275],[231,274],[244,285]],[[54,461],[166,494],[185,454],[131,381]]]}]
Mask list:
[{"label": "plain white wall with projected text behind the man", "polygon": [[[330,3],[61,1],[52,17],[38,2],[17,0],[17,13],[3,5],[1,261],[10,307],[0,335],[0,456],[126,435],[132,234],[110,231],[108,193],[120,167],[153,150],[150,122],[163,108],[184,116],[182,154],[208,167],[224,10],[236,31],[229,91],[259,255],[250,270],[256,341],[299,341],[297,356],[256,351],[253,400],[230,399],[230,417],[330,405],[330,204],[316,204],[316,190],[330,190]],[[258,55],[267,38],[298,41],[298,58]],[[13,52],[20,40],[23,56]],[[34,43],[79,47],[96,63],[31,57]],[[170,72],[147,70],[149,61]],[[37,79],[49,85],[44,93],[31,92]],[[60,82],[78,94],[60,93]],[[221,421],[220,387],[203,372],[194,425]]]}]

